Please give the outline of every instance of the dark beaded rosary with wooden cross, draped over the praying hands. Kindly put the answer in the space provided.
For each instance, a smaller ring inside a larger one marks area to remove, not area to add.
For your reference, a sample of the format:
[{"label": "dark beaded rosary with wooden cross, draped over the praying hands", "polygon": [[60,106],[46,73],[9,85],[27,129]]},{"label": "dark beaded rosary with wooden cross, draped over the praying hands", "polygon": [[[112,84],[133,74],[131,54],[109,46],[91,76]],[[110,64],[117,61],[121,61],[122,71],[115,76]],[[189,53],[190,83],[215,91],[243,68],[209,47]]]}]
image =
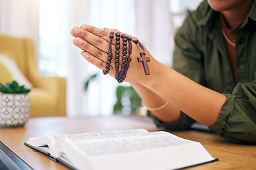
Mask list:
[{"label": "dark beaded rosary with wooden cross, draped over the praying hands", "polygon": [[[147,62],[150,62],[150,58],[146,57],[145,54],[145,49],[142,45],[141,42],[139,42],[139,40],[132,40],[132,38],[130,38],[127,35],[120,35],[119,32],[115,33],[113,31],[110,32],[110,42],[109,42],[109,52],[108,52],[108,57],[107,57],[107,63],[106,63],[106,67],[103,70],[103,74],[108,74],[108,72],[110,71],[110,64],[112,61],[112,57],[113,57],[113,53],[112,53],[112,40],[114,38],[114,35],[116,36],[116,46],[115,46],[115,55],[114,55],[114,69],[116,70],[116,74],[115,74],[115,79],[117,79],[117,81],[119,83],[122,83],[126,77],[127,71],[129,69],[129,63],[132,61],[132,58],[130,57],[130,55],[132,54],[132,42],[134,42],[134,44],[139,44],[139,47],[143,50],[143,52],[140,52],[140,57],[137,58],[138,62],[142,62],[143,67],[144,67],[144,72],[146,75],[149,75],[149,66],[147,64]],[[121,38],[122,38],[122,54],[120,54],[120,43],[121,43]],[[128,45],[128,47],[127,47]],[[128,52],[127,52],[128,50]],[[128,53],[128,57],[127,57],[127,53]],[[122,64],[121,64],[121,69],[119,70],[119,59],[120,59],[120,55],[122,55]]]}]

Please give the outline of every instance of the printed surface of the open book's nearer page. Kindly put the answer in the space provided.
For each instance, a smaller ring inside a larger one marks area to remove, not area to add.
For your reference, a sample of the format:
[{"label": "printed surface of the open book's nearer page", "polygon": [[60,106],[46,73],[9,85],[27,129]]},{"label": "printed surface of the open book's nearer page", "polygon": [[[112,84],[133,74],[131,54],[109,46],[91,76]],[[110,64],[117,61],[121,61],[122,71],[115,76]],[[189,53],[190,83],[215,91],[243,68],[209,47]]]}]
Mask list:
[{"label": "printed surface of the open book's nearer page", "polygon": [[102,156],[107,154],[120,154],[126,152],[140,152],[149,149],[176,147],[190,143],[169,132],[149,132],[139,136],[122,136],[115,138],[83,140],[70,142],[76,145],[86,157]]}]

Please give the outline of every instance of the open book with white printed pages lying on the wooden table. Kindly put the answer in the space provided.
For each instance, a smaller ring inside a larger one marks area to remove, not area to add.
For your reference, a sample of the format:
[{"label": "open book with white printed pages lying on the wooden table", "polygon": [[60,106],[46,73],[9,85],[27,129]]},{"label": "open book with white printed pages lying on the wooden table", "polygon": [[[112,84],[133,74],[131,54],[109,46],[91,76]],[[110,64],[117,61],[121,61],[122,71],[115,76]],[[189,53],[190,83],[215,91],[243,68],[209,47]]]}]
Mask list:
[{"label": "open book with white printed pages lying on the wooden table", "polygon": [[181,169],[217,160],[199,142],[142,129],[31,137],[25,145],[70,169]]}]

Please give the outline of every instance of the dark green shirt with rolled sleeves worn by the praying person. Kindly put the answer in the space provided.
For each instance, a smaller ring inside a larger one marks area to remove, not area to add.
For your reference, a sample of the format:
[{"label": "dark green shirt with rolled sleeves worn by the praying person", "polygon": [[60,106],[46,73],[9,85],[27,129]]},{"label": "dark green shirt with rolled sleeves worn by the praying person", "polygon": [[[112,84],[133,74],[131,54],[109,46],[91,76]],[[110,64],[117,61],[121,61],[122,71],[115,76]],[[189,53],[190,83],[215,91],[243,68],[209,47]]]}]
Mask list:
[{"label": "dark green shirt with rolled sleeves worn by the praying person", "polygon": [[[237,86],[225,49],[219,13],[213,11],[207,1],[188,14],[177,30],[175,45],[173,68],[176,71],[227,96],[217,122],[209,129],[230,142],[255,144],[256,2],[253,1],[250,12],[237,31]],[[174,123],[164,123],[156,118],[154,121],[168,129],[187,129],[195,122],[184,113]]]}]

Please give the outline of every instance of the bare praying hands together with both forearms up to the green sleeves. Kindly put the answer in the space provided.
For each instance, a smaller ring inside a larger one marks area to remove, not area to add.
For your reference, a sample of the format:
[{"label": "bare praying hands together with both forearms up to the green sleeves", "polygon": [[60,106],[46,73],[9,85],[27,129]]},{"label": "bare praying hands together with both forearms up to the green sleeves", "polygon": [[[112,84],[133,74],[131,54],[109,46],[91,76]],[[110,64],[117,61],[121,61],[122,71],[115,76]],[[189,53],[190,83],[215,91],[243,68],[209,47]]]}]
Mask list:
[{"label": "bare praying hands together with both forearms up to the green sleeves", "polygon": [[[71,35],[75,37],[73,43],[80,47],[81,54],[85,60],[94,64],[103,72],[107,64],[110,64],[110,69],[107,72],[110,76],[116,77],[115,62],[107,62],[108,57],[110,57],[110,49],[114,53],[117,45],[116,38],[110,36],[112,31],[114,33],[118,32],[107,28],[101,30],[92,26],[82,25],[80,28],[73,28]],[[122,33],[120,34],[122,35]],[[172,122],[177,120],[180,116],[180,111],[183,111],[201,123],[209,126],[213,125],[218,118],[220,108],[223,106],[226,97],[157,62],[146,48],[143,50],[141,45],[134,43],[137,38],[129,35],[128,37],[133,40],[132,53],[129,56],[132,60],[129,63],[125,81],[128,81],[134,87],[147,106],[150,108],[160,106],[161,111],[156,109],[152,113],[161,120]],[[120,49],[122,49],[124,45],[120,44],[120,46]],[[150,62],[144,61],[144,65],[139,62],[141,53],[145,53],[146,57],[150,58]],[[119,62],[122,64],[120,60]],[[145,74],[146,63],[150,69],[149,75]],[[215,98],[215,100],[212,100],[212,98]],[[169,103],[168,105],[166,105],[166,101]]]}]

